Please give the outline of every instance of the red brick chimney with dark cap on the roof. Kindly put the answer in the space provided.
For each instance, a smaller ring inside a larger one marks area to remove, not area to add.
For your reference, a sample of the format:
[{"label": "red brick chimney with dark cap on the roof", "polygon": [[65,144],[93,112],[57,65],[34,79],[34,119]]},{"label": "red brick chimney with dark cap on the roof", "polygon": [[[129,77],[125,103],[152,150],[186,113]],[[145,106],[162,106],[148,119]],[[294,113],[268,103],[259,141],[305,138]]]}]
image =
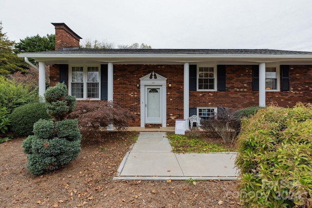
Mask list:
[{"label": "red brick chimney with dark cap on the roof", "polygon": [[82,39],[65,23],[51,23],[55,26],[55,50],[62,48],[78,48]]}]

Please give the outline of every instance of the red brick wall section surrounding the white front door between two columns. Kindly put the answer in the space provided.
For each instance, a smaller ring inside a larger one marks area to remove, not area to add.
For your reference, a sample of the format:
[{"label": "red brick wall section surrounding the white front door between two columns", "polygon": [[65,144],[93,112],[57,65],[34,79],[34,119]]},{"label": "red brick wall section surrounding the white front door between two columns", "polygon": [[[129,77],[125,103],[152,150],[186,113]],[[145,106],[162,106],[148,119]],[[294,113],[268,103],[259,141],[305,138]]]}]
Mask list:
[{"label": "red brick wall section surrounding the white front door between two columns", "polygon": [[151,72],[167,78],[167,125],[183,119],[183,65],[114,65],[114,103],[126,107],[136,116],[132,126],[140,126],[139,78]]}]

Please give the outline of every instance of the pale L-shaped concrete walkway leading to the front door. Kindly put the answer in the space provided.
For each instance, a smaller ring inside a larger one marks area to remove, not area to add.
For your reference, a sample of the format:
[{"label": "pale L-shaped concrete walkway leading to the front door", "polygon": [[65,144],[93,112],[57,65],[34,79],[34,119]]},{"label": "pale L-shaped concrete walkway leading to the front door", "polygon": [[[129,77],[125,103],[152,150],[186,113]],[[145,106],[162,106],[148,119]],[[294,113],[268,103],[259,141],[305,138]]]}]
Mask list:
[{"label": "pale L-shaped concrete walkway leading to the front door", "polygon": [[173,153],[165,132],[140,132],[114,180],[236,180],[236,152]]}]

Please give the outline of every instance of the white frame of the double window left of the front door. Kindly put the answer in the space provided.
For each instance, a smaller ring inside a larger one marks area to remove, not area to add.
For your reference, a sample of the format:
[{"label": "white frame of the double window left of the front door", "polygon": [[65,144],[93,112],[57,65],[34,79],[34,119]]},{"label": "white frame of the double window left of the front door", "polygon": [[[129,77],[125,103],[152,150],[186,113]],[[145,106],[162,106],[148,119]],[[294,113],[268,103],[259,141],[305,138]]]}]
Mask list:
[{"label": "white frame of the double window left of the front door", "polygon": [[[68,94],[72,95],[72,68],[83,67],[83,98],[76,98],[77,100],[100,100],[101,99],[101,66],[100,65],[70,65],[68,70]],[[88,98],[87,78],[88,67],[98,67],[98,98]]]}]

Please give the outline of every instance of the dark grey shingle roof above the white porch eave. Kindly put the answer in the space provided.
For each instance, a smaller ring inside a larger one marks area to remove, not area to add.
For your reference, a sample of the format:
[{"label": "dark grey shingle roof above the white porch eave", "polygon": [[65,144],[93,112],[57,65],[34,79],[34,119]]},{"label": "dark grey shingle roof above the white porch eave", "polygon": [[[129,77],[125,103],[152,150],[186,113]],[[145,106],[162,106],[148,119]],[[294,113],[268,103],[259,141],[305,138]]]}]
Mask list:
[{"label": "dark grey shingle roof above the white porch eave", "polygon": [[[27,53],[28,54],[28,53]],[[103,55],[312,55],[312,52],[284,51],[272,49],[63,49],[29,54],[103,54]]]}]

